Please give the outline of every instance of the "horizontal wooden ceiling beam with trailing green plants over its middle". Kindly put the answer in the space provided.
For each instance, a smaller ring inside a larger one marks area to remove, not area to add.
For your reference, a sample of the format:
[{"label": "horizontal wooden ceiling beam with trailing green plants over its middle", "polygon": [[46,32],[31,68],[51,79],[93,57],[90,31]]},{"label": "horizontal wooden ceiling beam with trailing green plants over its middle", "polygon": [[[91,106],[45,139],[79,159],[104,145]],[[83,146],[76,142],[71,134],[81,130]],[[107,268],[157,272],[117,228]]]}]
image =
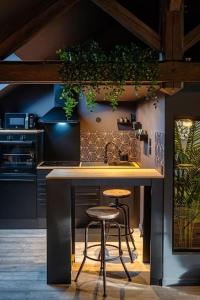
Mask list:
[{"label": "horizontal wooden ceiling beam with trailing green plants over its middle", "polygon": [[[62,83],[59,76],[60,67],[60,61],[0,61],[0,83]],[[162,62],[158,80],[200,82],[200,63]]]}]

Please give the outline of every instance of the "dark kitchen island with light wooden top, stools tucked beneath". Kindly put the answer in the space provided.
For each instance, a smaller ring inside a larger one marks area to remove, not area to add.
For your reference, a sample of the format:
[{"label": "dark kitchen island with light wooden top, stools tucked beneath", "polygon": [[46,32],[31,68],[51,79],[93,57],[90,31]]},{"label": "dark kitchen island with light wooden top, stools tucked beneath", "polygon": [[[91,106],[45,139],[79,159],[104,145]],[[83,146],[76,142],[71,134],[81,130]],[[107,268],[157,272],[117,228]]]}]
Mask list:
[{"label": "dark kitchen island with light wooden top, stools tucked beneath", "polygon": [[74,255],[74,187],[144,186],[143,261],[150,283],[162,284],[163,175],[155,169],[54,169],[47,175],[47,283],[71,283]]}]

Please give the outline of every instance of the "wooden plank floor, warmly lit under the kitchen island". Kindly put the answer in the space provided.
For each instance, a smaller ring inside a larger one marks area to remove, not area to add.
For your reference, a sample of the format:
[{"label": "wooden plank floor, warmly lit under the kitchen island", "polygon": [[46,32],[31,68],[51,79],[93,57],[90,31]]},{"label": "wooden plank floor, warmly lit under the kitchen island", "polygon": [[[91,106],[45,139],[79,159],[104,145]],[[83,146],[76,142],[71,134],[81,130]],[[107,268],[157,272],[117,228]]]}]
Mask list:
[{"label": "wooden plank floor, warmly lit under the kitchen island", "polygon": [[[107,299],[137,300],[193,300],[200,299],[200,287],[149,286],[149,266],[142,264],[142,240],[136,231],[137,255],[130,264],[129,283],[120,263],[108,265]],[[77,257],[73,278],[82,259],[82,232],[77,235]],[[94,251],[98,253],[98,249]],[[93,253],[94,254],[94,253]],[[112,253],[110,252],[110,255]],[[88,261],[77,284],[46,284],[46,232],[44,230],[0,230],[0,300],[95,300],[102,299],[102,281],[98,276],[98,265]]]}]

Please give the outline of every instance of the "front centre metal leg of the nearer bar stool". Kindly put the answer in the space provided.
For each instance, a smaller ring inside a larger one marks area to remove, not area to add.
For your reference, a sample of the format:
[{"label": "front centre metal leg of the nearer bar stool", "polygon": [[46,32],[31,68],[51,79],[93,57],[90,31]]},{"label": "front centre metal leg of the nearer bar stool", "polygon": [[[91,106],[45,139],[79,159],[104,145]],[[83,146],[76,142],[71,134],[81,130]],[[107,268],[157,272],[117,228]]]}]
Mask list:
[{"label": "front centre metal leg of the nearer bar stool", "polygon": [[106,222],[105,220],[101,223],[102,235],[101,235],[101,266],[103,271],[103,296],[106,297]]}]

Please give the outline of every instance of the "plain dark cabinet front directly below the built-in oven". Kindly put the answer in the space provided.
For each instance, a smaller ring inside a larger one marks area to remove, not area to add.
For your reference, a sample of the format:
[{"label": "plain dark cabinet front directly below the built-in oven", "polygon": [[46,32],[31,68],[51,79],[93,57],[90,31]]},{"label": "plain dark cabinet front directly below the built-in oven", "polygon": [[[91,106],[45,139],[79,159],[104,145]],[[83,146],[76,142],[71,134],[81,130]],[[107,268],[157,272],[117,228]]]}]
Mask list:
[{"label": "plain dark cabinet front directly below the built-in oven", "polygon": [[36,218],[36,176],[0,174],[0,219]]}]

